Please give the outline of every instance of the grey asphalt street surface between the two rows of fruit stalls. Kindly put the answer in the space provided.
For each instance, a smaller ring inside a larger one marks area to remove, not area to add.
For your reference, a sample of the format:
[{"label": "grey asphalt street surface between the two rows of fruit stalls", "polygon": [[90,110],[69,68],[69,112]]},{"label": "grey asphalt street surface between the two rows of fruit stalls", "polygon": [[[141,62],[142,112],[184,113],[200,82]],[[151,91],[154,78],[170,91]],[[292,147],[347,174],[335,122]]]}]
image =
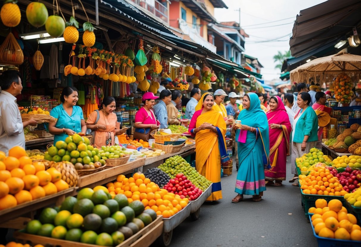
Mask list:
[{"label": "grey asphalt street surface between the two rows of fruit stalls", "polygon": [[231,203],[236,196],[234,166],[233,174],[221,180],[223,199],[204,203],[198,220],[188,217],[175,228],[170,246],[318,246],[301,207],[300,189],[288,183],[292,174],[287,158],[287,180],[280,187],[267,187],[260,202],[244,196]]}]

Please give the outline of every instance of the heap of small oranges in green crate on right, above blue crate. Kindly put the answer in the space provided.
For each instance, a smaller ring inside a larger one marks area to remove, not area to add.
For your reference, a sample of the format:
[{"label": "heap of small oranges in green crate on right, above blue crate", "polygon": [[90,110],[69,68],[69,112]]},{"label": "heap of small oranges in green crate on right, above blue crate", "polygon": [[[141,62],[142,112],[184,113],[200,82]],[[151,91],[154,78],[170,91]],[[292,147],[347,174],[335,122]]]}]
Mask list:
[{"label": "heap of small oranges in green crate on right, above blue crate", "polygon": [[314,167],[310,174],[299,175],[301,189],[304,194],[344,196],[347,194],[338,178],[325,167]]}]

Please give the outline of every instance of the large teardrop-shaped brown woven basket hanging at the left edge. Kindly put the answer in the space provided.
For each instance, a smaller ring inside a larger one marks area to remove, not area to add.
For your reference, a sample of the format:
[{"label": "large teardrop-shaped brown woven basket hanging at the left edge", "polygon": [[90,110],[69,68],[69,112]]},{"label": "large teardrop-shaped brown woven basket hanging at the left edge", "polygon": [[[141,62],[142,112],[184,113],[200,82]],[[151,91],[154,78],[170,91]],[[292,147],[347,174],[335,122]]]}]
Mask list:
[{"label": "large teardrop-shaped brown woven basket hanging at the left edge", "polygon": [[20,65],[24,62],[24,54],[14,35],[9,33],[0,46],[0,63]]}]

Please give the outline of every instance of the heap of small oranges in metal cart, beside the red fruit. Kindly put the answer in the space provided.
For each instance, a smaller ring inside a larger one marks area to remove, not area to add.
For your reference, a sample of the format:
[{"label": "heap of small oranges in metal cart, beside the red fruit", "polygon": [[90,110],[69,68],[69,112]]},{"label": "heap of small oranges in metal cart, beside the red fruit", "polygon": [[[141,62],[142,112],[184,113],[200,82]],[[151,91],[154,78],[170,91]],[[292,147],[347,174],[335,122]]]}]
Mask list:
[{"label": "heap of small oranges in metal cart, beside the red fruit", "polygon": [[164,218],[177,214],[188,205],[188,198],[160,189],[159,186],[144,174],[135,173],[131,178],[119,175],[117,181],[106,184],[109,193],[114,197],[116,194],[124,194],[128,202],[141,201],[145,209],[153,209],[157,215]]}]

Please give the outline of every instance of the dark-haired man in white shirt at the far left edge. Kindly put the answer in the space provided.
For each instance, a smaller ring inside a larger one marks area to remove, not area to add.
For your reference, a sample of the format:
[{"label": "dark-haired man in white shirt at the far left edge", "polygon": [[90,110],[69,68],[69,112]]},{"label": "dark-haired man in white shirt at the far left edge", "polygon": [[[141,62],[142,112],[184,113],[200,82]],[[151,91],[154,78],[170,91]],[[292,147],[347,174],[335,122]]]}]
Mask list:
[{"label": "dark-haired man in white shirt at the far left edge", "polygon": [[4,71],[0,76],[0,151],[8,155],[14,146],[25,148],[24,128],[35,126],[33,118],[22,122],[15,96],[21,94],[20,73],[15,70]]}]

